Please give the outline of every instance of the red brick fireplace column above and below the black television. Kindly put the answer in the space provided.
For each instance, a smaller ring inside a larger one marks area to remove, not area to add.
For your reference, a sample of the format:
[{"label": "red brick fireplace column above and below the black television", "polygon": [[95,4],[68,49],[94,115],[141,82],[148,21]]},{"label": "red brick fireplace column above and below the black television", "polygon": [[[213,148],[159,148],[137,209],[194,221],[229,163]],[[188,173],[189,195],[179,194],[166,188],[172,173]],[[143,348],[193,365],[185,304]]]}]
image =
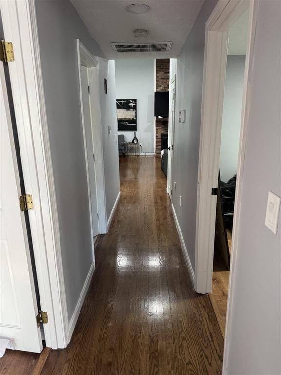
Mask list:
[{"label": "red brick fireplace column above and below the black television", "polygon": [[[169,91],[170,59],[156,59],[156,91]],[[156,153],[161,152],[161,134],[168,133],[168,121],[156,119]]]}]

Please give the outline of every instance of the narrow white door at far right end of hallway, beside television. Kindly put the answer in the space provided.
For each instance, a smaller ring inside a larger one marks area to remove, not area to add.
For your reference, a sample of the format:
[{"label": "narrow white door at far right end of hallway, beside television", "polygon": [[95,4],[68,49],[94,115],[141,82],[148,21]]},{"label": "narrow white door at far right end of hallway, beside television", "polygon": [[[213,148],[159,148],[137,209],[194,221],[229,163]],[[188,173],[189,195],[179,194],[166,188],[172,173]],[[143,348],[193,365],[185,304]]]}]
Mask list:
[{"label": "narrow white door at far right end of hallway, beside television", "polygon": [[173,147],[174,147],[174,126],[175,126],[175,81],[169,87],[169,131],[168,131],[168,194],[172,200],[173,184]]}]

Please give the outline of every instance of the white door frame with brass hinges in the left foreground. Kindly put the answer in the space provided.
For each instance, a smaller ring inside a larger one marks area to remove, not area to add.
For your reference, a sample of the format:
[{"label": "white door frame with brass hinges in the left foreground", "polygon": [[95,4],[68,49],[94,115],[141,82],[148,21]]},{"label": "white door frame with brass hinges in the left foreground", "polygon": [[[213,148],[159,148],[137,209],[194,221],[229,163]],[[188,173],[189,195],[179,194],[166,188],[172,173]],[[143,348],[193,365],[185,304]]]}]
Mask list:
[{"label": "white door frame with brass hinges in the left foreground", "polygon": [[5,39],[15,52],[8,67],[24,183],[34,202],[28,215],[41,309],[48,313],[48,324],[43,325],[46,346],[65,348],[70,341],[69,320],[35,0],[1,0],[0,8]]}]

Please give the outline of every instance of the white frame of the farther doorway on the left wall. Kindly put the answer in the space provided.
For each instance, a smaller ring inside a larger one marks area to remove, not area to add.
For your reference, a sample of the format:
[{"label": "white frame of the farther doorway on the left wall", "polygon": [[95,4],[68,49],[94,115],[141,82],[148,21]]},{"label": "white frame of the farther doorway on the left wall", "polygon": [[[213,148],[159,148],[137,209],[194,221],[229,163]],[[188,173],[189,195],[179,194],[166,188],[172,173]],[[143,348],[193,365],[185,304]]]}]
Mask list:
[{"label": "white frame of the farther doorway on the left wall", "polygon": [[[89,166],[87,158],[86,148],[86,133],[85,123],[83,116],[83,100],[82,100],[82,84],[81,84],[81,65],[86,66],[88,69],[88,79],[90,88],[90,111],[91,111],[91,127],[93,134],[93,150],[95,154],[95,174],[96,174],[96,199],[97,209],[99,214],[98,226],[99,233],[107,233],[107,219],[106,219],[106,197],[105,197],[105,176],[104,176],[104,160],[103,160],[103,142],[102,142],[102,125],[101,125],[101,108],[100,108],[100,83],[99,83],[99,62],[98,60],[87,50],[87,48],[76,40],[77,45],[77,62],[78,62],[78,76],[79,76],[79,89],[80,89],[80,114],[83,125],[83,138],[85,147],[85,158],[86,158],[86,172],[87,172],[87,183],[89,193],[89,209],[90,209],[90,222],[91,222],[91,233],[92,233],[92,249],[93,249],[93,261],[95,262],[94,254],[94,242],[93,242],[93,226],[92,226],[92,204],[91,204],[91,190],[90,190],[90,179],[89,179]],[[93,116],[92,114],[96,115]]]}]

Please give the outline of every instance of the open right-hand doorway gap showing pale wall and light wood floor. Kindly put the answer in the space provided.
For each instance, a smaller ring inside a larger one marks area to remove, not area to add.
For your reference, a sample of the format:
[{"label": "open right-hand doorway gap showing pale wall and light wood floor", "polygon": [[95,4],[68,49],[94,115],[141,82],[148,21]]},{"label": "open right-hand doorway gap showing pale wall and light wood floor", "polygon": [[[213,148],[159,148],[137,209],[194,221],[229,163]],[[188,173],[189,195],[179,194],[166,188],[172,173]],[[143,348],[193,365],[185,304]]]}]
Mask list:
[{"label": "open right-hand doorway gap showing pale wall and light wood floor", "polygon": [[225,335],[232,256],[232,229],[248,29],[249,9],[229,29],[223,96],[212,292],[209,294],[223,336]]}]

